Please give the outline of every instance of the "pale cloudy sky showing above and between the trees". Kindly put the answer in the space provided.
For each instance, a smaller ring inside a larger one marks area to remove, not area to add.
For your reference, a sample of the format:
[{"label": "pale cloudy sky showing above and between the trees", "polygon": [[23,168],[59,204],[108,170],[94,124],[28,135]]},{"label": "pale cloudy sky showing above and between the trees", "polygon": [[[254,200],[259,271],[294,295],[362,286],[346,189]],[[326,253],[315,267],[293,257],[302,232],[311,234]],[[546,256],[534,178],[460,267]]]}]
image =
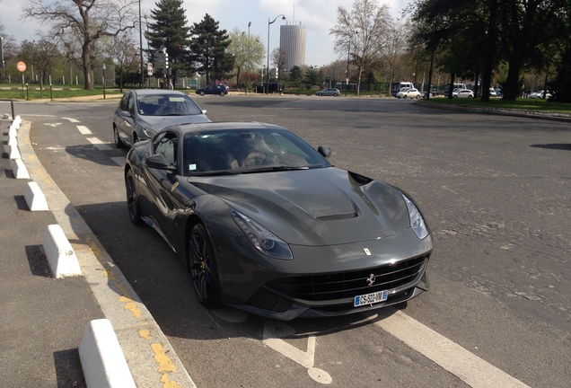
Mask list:
[{"label": "pale cloudy sky showing above and between the trees", "polygon": [[[156,8],[158,0],[140,1],[145,15]],[[391,15],[399,18],[400,11],[412,0],[377,1],[388,5]],[[22,20],[22,4],[26,2],[27,0],[0,0],[0,23],[4,25],[4,32],[18,43],[22,40],[39,40],[39,32],[49,30],[48,26],[41,25],[36,20]],[[189,25],[202,21],[206,13],[220,23],[220,29],[228,32],[237,27],[248,33],[248,23],[251,22],[250,36],[258,36],[264,45],[268,41],[268,22],[273,21],[277,15],[284,14],[286,21],[278,17],[269,27],[270,52],[279,46],[279,25],[302,23],[306,30],[305,63],[323,66],[339,59],[334,50],[333,36],[329,35],[329,30],[337,21],[338,6],[350,11],[353,2],[354,0],[184,0],[183,6]],[[145,38],[143,46],[146,46]]]}]

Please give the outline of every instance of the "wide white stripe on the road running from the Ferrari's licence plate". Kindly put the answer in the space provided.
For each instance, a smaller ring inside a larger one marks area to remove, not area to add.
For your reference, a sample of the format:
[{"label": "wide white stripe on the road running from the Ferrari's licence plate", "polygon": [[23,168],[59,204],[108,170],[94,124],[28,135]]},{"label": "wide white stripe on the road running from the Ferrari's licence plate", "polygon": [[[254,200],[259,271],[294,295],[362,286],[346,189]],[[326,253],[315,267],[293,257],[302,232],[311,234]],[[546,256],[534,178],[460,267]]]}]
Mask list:
[{"label": "wide white stripe on the road running from the Ferrari's licence plate", "polygon": [[[371,319],[376,316],[372,316]],[[388,317],[375,321],[374,324],[406,343],[408,347],[430,358],[452,375],[456,375],[470,387],[529,388],[528,385],[398,310]]]}]

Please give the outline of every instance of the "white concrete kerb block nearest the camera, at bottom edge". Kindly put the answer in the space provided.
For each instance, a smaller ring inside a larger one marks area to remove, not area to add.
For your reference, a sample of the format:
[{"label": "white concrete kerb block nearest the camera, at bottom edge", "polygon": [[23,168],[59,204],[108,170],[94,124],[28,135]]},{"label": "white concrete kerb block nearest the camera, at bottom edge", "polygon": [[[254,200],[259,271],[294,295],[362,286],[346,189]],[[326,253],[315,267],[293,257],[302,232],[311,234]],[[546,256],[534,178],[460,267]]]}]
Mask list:
[{"label": "white concrete kerb block nearest the camera, at bottom edge", "polygon": [[136,388],[109,320],[89,322],[79,344],[79,358],[88,388]]}]

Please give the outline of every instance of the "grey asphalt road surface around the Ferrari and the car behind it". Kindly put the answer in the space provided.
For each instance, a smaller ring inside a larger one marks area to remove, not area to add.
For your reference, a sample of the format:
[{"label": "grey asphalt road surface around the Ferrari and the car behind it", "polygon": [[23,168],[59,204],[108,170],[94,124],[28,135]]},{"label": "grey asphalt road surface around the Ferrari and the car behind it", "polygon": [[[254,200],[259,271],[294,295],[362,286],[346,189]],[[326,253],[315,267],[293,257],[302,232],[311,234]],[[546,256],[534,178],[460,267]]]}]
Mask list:
[{"label": "grey asphalt road surface around the Ferrari and the car behind it", "polygon": [[215,121],[268,121],[329,145],[332,163],[408,191],[435,237],[432,291],[400,312],[282,323],[209,311],[161,237],[128,221],[117,101],[18,104],[40,161],[198,387],[568,386],[568,122],[396,99],[196,100]]}]

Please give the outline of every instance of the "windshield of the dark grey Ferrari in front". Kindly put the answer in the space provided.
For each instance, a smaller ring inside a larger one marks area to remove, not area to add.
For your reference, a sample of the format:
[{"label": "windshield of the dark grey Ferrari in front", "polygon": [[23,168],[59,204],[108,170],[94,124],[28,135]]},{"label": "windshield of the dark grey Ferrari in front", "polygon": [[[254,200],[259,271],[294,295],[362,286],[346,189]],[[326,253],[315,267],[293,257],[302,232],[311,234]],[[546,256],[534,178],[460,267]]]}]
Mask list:
[{"label": "windshield of the dark grey Ferrari in front", "polygon": [[330,167],[311,145],[284,129],[229,129],[188,134],[184,174],[221,175]]}]

